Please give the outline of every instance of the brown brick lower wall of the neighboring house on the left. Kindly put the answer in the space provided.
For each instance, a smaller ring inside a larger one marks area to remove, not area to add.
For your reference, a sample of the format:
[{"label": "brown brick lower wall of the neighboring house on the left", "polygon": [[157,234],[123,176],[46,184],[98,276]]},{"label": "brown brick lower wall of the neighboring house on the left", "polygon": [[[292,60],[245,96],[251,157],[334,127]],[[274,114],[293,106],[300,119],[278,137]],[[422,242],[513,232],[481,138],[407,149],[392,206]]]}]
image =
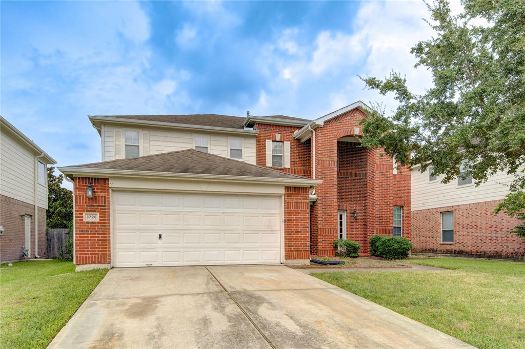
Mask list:
[{"label": "brown brick lower wall of the neighboring house on the left", "polygon": [[[35,258],[35,206],[23,201],[0,196],[0,224],[4,235],[0,236],[0,260],[13,261],[24,259],[21,256],[25,245],[25,218],[20,215],[31,215],[31,248],[30,257]],[[46,257],[46,209],[38,207],[38,256]]]}]

